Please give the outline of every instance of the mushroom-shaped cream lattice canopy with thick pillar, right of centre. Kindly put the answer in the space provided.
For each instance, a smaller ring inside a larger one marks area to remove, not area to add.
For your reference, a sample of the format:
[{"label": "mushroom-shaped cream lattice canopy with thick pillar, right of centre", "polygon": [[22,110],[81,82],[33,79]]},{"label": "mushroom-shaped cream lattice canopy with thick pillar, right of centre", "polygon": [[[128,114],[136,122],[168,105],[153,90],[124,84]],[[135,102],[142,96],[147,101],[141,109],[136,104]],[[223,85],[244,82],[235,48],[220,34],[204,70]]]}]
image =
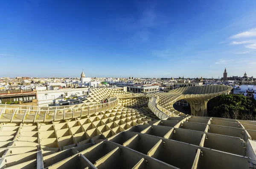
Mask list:
[{"label": "mushroom-shaped cream lattice canopy with thick pillar, right of centre", "polygon": [[[218,95],[228,94],[231,89],[231,86],[223,85],[180,87],[167,93],[158,93],[153,95],[148,107],[153,105],[153,107],[157,107],[161,112],[168,115],[163,116],[164,119],[167,119],[168,117],[184,116],[182,112],[173,108],[173,104],[176,101],[184,99],[189,102],[192,115],[207,116],[206,107],[208,100]],[[160,115],[162,116],[162,114]]]}]

